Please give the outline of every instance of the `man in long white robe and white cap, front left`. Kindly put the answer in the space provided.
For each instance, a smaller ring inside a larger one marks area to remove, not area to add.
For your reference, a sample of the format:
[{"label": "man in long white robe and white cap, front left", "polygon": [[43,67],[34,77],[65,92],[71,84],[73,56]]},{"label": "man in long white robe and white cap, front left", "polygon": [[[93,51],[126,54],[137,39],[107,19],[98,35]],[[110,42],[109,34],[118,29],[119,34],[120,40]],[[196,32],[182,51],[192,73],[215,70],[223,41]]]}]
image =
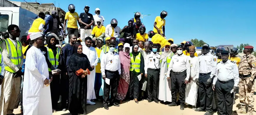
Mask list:
[{"label": "man in long white robe and white cap, front left", "polygon": [[33,46],[27,51],[23,82],[24,115],[52,115],[49,72],[43,52],[44,39],[40,32],[30,35]]}]

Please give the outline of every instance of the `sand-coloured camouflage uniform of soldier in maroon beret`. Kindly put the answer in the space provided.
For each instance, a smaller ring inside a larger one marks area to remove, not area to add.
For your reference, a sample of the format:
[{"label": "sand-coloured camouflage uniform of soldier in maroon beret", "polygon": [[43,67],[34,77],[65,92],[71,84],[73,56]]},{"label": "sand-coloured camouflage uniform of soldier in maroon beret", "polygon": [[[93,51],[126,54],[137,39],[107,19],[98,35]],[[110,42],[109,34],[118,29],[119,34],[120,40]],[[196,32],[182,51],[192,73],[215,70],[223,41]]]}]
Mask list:
[{"label": "sand-coloured camouflage uniform of soldier in maroon beret", "polygon": [[[248,56],[243,56],[239,63],[239,99],[240,99],[240,109],[237,113],[246,113],[245,110],[245,99],[248,101],[248,111],[247,115],[253,115],[254,111],[254,78],[256,75],[256,57],[252,54]],[[248,89],[247,84],[249,81],[252,82],[252,88]]]}]

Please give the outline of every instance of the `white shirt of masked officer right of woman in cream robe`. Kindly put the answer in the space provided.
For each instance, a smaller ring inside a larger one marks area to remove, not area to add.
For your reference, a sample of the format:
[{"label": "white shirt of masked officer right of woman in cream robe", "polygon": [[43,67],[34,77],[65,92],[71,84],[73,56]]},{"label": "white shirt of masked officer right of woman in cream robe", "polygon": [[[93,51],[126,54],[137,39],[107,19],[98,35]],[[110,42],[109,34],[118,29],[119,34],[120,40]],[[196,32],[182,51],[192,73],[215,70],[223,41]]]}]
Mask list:
[{"label": "white shirt of masked officer right of woman in cream robe", "polygon": [[180,56],[179,55],[174,55],[171,58],[170,65],[168,67],[168,72],[167,72],[168,76],[170,75],[171,70],[173,72],[178,72],[178,73],[187,70],[186,71],[187,77],[186,77],[185,80],[189,80],[189,76],[190,76],[189,56],[186,56],[184,54],[181,54]]}]

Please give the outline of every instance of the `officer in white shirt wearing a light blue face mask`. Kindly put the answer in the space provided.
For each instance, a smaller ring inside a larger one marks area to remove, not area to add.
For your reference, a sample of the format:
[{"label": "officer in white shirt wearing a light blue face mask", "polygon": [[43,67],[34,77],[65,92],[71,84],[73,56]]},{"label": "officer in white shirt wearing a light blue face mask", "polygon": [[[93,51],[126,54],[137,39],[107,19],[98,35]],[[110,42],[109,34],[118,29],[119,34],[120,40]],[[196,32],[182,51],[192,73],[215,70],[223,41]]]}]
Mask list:
[{"label": "officer in white shirt wearing a light blue face mask", "polygon": [[157,87],[159,81],[159,67],[161,55],[157,53],[158,44],[153,44],[153,52],[148,53],[145,60],[145,77],[148,78],[148,102],[157,101]]}]

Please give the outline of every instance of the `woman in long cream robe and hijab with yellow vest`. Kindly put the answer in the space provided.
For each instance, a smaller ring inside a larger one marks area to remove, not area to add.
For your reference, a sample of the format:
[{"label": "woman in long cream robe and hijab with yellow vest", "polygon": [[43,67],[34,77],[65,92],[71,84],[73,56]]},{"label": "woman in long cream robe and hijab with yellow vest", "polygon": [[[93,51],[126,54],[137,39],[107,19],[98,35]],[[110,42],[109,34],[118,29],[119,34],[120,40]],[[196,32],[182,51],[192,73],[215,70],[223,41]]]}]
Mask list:
[{"label": "woman in long cream robe and hijab with yellow vest", "polygon": [[172,56],[174,55],[171,52],[171,44],[166,42],[164,51],[161,54],[160,62],[160,77],[159,77],[159,95],[158,99],[166,102],[171,102],[171,81],[167,80],[165,73],[168,71],[169,63]]}]

